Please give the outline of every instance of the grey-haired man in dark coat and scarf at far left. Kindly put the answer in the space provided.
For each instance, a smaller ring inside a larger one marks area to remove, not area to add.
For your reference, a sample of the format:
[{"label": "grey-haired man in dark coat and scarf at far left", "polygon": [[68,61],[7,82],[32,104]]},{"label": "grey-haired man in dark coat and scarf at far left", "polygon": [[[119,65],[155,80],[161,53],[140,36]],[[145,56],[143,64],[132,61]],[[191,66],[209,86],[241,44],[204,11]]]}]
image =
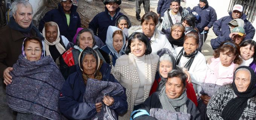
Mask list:
[{"label": "grey-haired man in dark coat and scarf at far left", "polygon": [[[21,54],[23,40],[37,36],[44,39],[40,31],[32,23],[33,9],[27,0],[15,0],[12,3],[12,15],[8,25],[0,30],[0,78],[5,84],[11,84],[10,71]],[[22,13],[22,14],[21,14]]]}]

